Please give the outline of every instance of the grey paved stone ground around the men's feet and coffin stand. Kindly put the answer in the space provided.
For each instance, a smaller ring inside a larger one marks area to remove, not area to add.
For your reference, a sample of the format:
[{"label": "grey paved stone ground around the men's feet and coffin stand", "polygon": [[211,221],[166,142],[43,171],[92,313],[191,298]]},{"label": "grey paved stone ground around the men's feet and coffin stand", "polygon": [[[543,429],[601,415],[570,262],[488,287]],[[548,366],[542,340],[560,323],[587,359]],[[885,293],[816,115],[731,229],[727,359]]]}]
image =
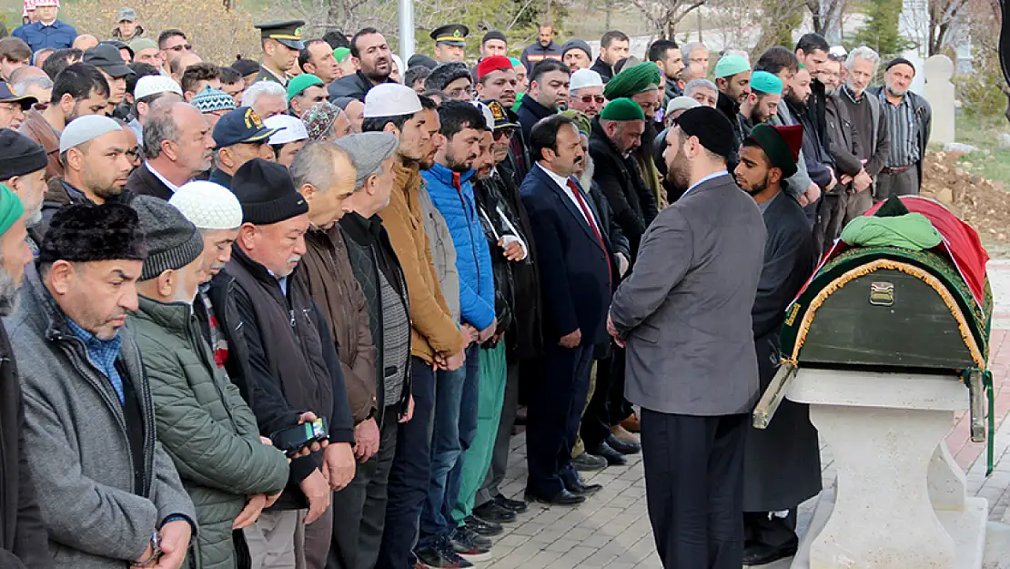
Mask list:
[{"label": "grey paved stone ground around the men's feet and coffin stand", "polygon": [[[989,500],[990,519],[1010,523],[1010,261],[994,261],[989,266],[993,287],[993,334],[990,361],[996,392],[997,436],[995,439],[996,467],[986,478],[985,445],[969,439],[968,417],[955,417],[947,437],[947,445],[957,463],[968,473],[969,491]],[[577,507],[545,507],[530,504],[526,513],[514,524],[505,526],[505,534],[496,538],[492,549],[495,557],[476,564],[493,569],[571,569],[601,567],[607,569],[661,569],[655,554],[648,514],[645,508],[645,481],[641,457],[628,457],[628,465],[609,467],[586,478],[603,484],[603,490]],[[526,477],[525,436],[512,439],[512,453],[503,491],[521,496]],[[834,481],[834,468],[828,448],[821,448],[821,465],[825,487]],[[798,527],[802,532],[810,524],[814,500],[799,508]],[[1010,528],[993,524],[998,537],[994,541],[1010,544]],[[988,556],[1008,558],[1003,553]],[[786,569],[788,561],[766,566],[766,569]],[[989,567],[1004,567],[1002,561],[987,562]]]}]

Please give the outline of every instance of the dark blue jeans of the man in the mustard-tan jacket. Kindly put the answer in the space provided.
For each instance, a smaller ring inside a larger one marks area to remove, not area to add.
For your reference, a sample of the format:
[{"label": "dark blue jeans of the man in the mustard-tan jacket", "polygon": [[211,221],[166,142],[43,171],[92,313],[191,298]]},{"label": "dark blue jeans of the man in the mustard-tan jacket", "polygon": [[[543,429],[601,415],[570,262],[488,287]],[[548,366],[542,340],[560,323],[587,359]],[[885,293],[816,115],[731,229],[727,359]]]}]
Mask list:
[{"label": "dark blue jeans of the man in the mustard-tan jacket", "polygon": [[414,416],[400,423],[396,457],[389,472],[386,527],[376,569],[414,569],[417,523],[428,489],[431,468],[431,413],[434,410],[435,374],[431,365],[410,358],[410,392]]}]

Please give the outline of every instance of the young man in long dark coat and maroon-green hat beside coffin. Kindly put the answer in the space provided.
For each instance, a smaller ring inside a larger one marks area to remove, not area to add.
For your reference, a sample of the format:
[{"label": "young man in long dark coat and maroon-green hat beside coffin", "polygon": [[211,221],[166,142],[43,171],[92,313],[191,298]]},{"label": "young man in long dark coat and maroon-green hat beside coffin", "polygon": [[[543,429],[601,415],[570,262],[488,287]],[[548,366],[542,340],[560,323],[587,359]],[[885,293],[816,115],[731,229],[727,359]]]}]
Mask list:
[{"label": "young man in long dark coat and maroon-green hat beside coffin", "polygon": [[[796,173],[803,127],[759,124],[743,141],[736,182],[749,193],[768,231],[765,265],[751,319],[761,391],[782,361],[779,333],[785,310],[813,272],[814,243],[806,214],[783,191]],[[821,489],[817,431],[807,405],[783,400],[767,430],[747,434],[743,463],[744,565],[764,565],[796,553],[796,506]]]}]

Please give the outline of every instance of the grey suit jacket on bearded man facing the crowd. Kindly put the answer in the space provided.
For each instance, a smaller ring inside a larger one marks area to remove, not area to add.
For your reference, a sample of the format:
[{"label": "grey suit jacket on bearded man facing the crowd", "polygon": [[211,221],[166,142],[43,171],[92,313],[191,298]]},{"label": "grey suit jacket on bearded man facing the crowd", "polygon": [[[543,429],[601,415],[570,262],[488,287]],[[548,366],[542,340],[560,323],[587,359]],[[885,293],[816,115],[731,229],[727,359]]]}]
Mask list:
[{"label": "grey suit jacket on bearded man facing the crowd", "polygon": [[756,204],[728,175],[660,212],[610,308],[627,340],[629,401],[689,415],[750,410],[758,395],[750,310],[765,233]]}]

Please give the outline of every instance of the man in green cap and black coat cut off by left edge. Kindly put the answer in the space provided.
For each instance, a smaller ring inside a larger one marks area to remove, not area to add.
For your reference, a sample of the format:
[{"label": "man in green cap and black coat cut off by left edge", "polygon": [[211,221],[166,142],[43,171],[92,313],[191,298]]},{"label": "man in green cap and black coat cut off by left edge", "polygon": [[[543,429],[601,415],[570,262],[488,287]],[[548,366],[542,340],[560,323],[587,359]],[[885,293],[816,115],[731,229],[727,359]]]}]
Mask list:
[{"label": "man in green cap and black coat cut off by left edge", "polygon": [[[14,160],[13,157],[4,157]],[[0,267],[0,315],[14,311],[14,298],[24,266],[31,262],[25,242],[24,206],[7,186],[0,186],[0,249],[16,251],[4,255]],[[24,458],[24,409],[17,365],[6,328],[0,324],[0,567],[4,569],[49,569],[48,538],[42,525],[34,489]]]}]

